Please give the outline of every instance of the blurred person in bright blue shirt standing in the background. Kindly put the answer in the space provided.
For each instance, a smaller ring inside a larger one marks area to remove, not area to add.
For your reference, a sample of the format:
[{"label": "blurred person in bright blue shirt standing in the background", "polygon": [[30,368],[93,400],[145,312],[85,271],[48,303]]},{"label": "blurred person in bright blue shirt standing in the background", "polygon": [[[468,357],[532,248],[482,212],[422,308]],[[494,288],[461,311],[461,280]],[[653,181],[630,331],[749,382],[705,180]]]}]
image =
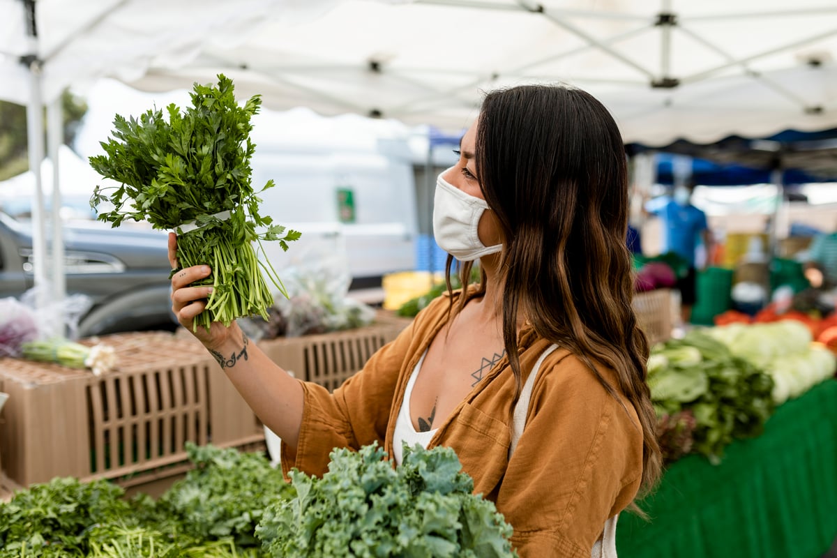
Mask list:
[{"label": "blurred person in bright blue shirt standing in the background", "polygon": [[[689,262],[686,277],[678,278],[680,290],[681,316],[688,324],[691,308],[697,299],[696,292],[696,248],[702,242],[706,253],[711,253],[712,236],[706,223],[706,213],[691,204],[691,194],[695,185],[689,183],[675,187],[668,202],[656,207],[652,212],[662,219],[663,253],[675,252]],[[701,267],[706,262],[701,262]]]}]

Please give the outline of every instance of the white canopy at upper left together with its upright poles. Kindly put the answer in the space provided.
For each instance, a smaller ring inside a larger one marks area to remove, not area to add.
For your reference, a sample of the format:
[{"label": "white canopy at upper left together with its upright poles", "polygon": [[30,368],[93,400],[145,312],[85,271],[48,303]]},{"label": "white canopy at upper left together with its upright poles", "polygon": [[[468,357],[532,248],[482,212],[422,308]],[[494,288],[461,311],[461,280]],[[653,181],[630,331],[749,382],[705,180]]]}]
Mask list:
[{"label": "white canopy at upper left together with its upright poles", "polygon": [[[286,25],[316,17],[339,0],[0,0],[0,100],[27,105],[33,169],[33,274],[39,305],[64,298],[60,171],[54,164],[51,273],[40,161],[43,108],[50,159],[62,142],[60,95],[102,76],[137,79],[151,65],[193,59],[208,38],[232,46],[269,21]],[[49,285],[49,290],[47,286]],[[51,296],[50,296],[51,294]]]}]

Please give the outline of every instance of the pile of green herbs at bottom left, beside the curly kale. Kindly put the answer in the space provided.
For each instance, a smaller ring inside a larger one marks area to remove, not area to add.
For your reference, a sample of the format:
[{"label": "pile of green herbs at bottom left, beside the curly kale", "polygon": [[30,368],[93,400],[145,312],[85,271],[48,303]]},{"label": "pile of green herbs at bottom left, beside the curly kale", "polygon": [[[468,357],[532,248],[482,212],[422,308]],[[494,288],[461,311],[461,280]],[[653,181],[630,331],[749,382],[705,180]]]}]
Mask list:
[{"label": "pile of green herbs at bottom left, beside the curly kale", "polygon": [[56,478],[0,503],[0,558],[264,556],[261,512],[293,494],[263,455],[187,444],[196,468],[155,502],[105,480]]}]

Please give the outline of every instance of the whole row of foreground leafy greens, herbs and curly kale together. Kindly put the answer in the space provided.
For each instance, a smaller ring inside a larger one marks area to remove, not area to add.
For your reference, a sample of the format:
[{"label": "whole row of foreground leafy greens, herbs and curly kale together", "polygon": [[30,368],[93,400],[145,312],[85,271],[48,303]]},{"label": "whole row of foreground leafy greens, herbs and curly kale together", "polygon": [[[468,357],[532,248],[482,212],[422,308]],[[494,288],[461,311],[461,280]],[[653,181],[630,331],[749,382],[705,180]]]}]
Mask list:
[{"label": "whole row of foreground leafy greens, herbs and curly kale together", "polygon": [[335,450],[286,484],[261,454],[187,445],[196,465],[156,501],[105,480],[53,479],[0,504],[0,558],[514,556],[511,527],[471,494],[453,450]]}]

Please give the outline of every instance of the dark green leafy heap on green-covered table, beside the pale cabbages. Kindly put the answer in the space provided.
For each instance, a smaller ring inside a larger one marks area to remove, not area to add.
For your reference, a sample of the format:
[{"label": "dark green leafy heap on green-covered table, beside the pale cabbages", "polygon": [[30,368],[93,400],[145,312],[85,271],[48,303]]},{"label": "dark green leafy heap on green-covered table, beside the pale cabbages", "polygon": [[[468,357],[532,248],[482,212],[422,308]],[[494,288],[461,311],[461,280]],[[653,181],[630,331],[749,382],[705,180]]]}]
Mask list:
[{"label": "dark green leafy heap on green-covered table, beside the pale cabbages", "polygon": [[[682,431],[689,428],[689,450],[713,463],[734,438],[763,433],[776,407],[773,379],[701,330],[654,346],[648,385],[660,423],[675,429],[674,436],[661,440],[686,443]],[[682,449],[664,448],[664,453],[671,459]]]}]

